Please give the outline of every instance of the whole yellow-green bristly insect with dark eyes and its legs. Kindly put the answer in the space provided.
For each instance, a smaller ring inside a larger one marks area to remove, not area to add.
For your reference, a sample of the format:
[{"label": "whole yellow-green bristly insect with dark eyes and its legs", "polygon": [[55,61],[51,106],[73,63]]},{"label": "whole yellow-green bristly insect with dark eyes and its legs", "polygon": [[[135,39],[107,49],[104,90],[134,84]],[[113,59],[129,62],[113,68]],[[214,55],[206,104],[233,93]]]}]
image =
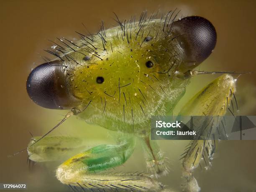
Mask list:
[{"label": "whole yellow-green bristly insect with dark eyes and its legs", "polygon": [[[69,110],[52,130],[76,115],[87,123],[120,132],[120,138],[114,145],[78,152],[82,141],[46,136],[50,130],[43,137],[33,138],[28,145],[29,158],[53,161],[73,147],[77,154],[68,157],[56,170],[57,179],[72,189],[166,190],[156,180],[168,173],[168,166],[156,141],[150,139],[150,120],[152,116],[170,114],[190,78],[204,73],[194,69],[214,50],[217,34],[207,19],[178,19],[172,11],[161,17],[147,17],[144,12],[138,20],[116,20],[117,27],[106,29],[102,24],[95,34],[77,32],[81,37],[77,42],[59,39],[54,49],[47,50],[56,59],[30,73],[27,92],[42,107]],[[223,74],[188,101],[180,115],[219,116],[213,122],[218,125],[235,91],[233,77]],[[136,147],[135,138],[143,141],[148,174],[101,174],[128,160]],[[54,147],[57,143],[60,150]],[[183,159],[187,191],[200,190],[192,170],[202,158],[212,157],[214,149],[215,142],[210,137],[189,145]]]}]

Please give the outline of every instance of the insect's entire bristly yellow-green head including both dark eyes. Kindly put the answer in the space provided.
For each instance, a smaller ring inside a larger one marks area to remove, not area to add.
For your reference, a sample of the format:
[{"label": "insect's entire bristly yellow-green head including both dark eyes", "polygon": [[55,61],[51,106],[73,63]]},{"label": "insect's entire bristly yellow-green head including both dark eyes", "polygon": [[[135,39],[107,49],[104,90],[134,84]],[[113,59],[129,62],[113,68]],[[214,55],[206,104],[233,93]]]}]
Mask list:
[{"label": "insect's entire bristly yellow-green head including both dark eyes", "polygon": [[[126,132],[145,130],[185,92],[189,72],[216,44],[202,17],[129,20],[49,51],[57,60],[36,67],[27,91],[42,107],[72,109],[89,123]],[[118,20],[119,21],[119,20]],[[64,48],[66,47],[66,48]],[[181,75],[182,74],[182,75]]]}]

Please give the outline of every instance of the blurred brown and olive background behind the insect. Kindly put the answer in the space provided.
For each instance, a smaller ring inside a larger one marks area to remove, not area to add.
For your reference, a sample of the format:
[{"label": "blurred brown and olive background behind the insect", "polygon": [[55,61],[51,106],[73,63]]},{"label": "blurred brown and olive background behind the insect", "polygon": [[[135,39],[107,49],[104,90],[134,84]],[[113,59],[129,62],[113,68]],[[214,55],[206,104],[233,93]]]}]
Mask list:
[{"label": "blurred brown and olive background behind the insect", "polygon": [[[31,135],[42,135],[65,114],[37,106],[26,93],[26,78],[31,68],[39,65],[43,50],[56,37],[78,36],[74,31],[96,32],[101,20],[105,27],[117,25],[113,11],[120,19],[142,11],[167,12],[181,10],[180,17],[200,15],[216,28],[218,42],[212,55],[200,70],[256,72],[256,1],[184,1],[184,0],[1,0],[0,1],[0,183],[27,183],[28,191],[68,191],[54,177],[54,166],[35,165],[29,169],[26,152],[15,157],[8,155],[27,146]],[[195,93],[216,75],[195,77],[188,87]],[[240,114],[256,115],[256,76],[238,78],[236,97]],[[185,100],[192,95],[186,95]],[[55,135],[83,134],[85,139],[104,139],[107,131],[86,125],[72,118],[61,125]],[[170,142],[172,145],[170,145]],[[182,184],[179,155],[186,142],[161,141],[169,157],[171,172],[160,180],[180,191]],[[171,148],[169,146],[172,146]],[[202,192],[255,192],[256,141],[220,142],[210,170],[197,170]],[[127,162],[126,171],[145,167],[139,149],[137,156]],[[137,157],[137,158],[135,158]],[[140,158],[138,158],[140,157]]]}]

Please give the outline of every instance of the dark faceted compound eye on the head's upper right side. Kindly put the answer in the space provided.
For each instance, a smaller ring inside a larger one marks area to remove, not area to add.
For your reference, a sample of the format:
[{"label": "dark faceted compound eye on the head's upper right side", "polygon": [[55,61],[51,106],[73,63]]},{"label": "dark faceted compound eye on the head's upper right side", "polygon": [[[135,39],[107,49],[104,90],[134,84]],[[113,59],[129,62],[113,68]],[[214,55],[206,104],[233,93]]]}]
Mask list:
[{"label": "dark faceted compound eye on the head's upper right side", "polygon": [[217,34],[210,21],[203,17],[184,17],[174,22],[174,31],[179,35],[185,53],[185,65],[194,68],[214,50]]}]

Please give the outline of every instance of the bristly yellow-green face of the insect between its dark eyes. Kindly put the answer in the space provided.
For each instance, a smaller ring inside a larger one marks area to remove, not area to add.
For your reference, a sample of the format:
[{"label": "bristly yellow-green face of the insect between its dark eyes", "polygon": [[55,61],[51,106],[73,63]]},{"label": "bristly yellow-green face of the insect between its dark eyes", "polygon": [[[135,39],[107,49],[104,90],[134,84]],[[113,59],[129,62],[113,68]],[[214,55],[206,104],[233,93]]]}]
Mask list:
[{"label": "bristly yellow-green face of the insect between its dark eyes", "polygon": [[[79,63],[67,63],[67,73],[71,74],[69,84],[74,96],[82,102],[80,110],[91,101],[79,117],[109,130],[141,132],[149,128],[152,115],[166,115],[172,110],[189,80],[175,77],[183,52],[177,40],[172,40],[174,34],[166,37],[161,25],[163,21],[152,20],[144,23],[141,30],[136,22],[131,23],[127,32],[119,31],[120,27],[102,31],[94,42],[87,38],[97,47],[93,55],[82,42],[76,43],[79,52],[67,54]],[[156,38],[145,41],[146,37]],[[90,60],[84,60],[81,53]],[[148,61],[154,66],[148,68]],[[98,84],[97,77],[104,77],[104,82]]]}]

